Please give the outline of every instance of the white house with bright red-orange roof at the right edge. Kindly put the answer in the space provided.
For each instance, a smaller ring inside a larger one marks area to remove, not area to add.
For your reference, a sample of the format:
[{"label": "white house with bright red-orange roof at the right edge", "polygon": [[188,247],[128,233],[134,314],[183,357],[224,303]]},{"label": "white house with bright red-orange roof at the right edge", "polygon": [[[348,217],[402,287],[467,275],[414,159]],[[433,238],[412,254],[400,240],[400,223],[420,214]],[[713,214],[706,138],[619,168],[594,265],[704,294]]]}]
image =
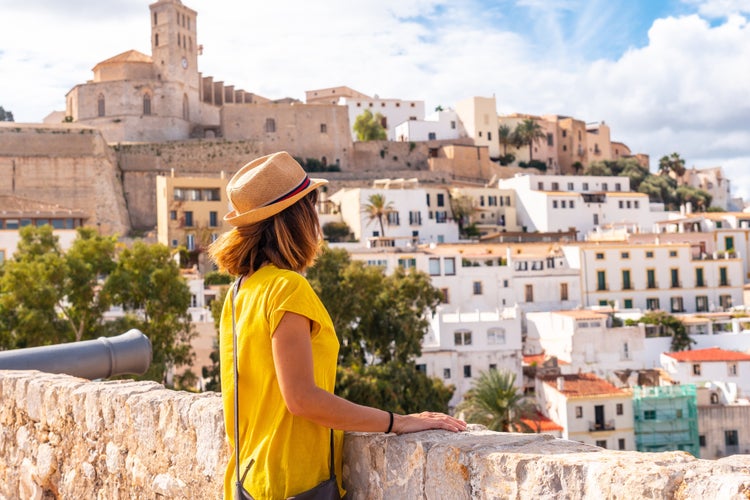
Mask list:
[{"label": "white house with bright red-orange roof at the right edge", "polygon": [[704,385],[724,382],[736,387],[739,396],[750,395],[750,354],[718,347],[690,351],[665,352],[662,368],[681,384]]}]

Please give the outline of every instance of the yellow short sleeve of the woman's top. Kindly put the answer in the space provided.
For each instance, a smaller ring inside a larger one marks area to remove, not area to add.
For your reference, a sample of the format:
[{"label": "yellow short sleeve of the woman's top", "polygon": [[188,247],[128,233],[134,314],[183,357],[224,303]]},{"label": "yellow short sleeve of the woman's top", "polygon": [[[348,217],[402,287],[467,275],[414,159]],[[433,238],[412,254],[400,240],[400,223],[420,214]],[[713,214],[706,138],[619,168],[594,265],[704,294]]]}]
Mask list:
[{"label": "yellow short sleeve of the woman's top", "polygon": [[313,322],[312,336],[320,330],[320,325],[314,319],[318,315],[320,300],[303,276],[293,271],[282,273],[273,280],[267,297],[266,317],[272,337],[287,311],[310,318]]}]

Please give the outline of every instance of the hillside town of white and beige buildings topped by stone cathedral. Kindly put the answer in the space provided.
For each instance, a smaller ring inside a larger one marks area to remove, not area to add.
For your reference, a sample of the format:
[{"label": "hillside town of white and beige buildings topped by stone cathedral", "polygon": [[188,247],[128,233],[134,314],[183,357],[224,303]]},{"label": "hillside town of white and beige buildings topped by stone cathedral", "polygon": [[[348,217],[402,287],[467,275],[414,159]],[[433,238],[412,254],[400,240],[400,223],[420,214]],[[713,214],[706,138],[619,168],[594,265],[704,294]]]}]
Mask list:
[{"label": "hillside town of white and beige buildings topped by stone cathedral", "polygon": [[[441,291],[416,364],[455,388],[451,408],[505,371],[538,432],[750,454],[750,210],[720,166],[649,158],[589,117],[500,115],[494,96],[434,112],[343,85],[270,99],[199,71],[196,11],[149,8],[150,55],[96,62],[43,123],[0,122],[0,262],[29,225],[63,248],[91,226],[190,255],[200,372],[219,297],[205,249],[230,229],[227,182],[285,150],[329,180],[317,208],[330,248]],[[691,196],[657,200],[639,189],[649,175]],[[651,313],[676,318],[687,348]]]}]

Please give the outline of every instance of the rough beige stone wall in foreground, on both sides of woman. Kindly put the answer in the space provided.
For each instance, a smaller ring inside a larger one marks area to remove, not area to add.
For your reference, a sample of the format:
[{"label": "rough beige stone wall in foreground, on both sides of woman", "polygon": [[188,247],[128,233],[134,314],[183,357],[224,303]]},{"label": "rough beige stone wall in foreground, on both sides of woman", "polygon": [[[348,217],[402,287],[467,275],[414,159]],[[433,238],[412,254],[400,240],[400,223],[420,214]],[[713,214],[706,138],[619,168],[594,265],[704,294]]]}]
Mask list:
[{"label": "rough beige stone wall in foreground, on both sides of woman", "polygon": [[[748,499],[750,456],[602,450],[472,426],[349,433],[351,499]],[[221,497],[220,397],[133,381],[0,371],[0,499]]]}]

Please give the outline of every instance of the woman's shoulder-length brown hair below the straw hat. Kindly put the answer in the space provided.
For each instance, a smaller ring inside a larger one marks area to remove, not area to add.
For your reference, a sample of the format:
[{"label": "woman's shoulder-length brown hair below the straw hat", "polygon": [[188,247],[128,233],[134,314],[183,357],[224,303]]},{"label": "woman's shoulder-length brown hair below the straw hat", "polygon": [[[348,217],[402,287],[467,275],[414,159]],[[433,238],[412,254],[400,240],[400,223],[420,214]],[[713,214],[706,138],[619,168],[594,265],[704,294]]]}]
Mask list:
[{"label": "woman's shoulder-length brown hair below the straw hat", "polygon": [[304,271],[320,248],[317,199],[317,191],[311,191],[273,217],[227,231],[208,248],[209,256],[233,276],[257,271],[268,262],[280,269]]}]

